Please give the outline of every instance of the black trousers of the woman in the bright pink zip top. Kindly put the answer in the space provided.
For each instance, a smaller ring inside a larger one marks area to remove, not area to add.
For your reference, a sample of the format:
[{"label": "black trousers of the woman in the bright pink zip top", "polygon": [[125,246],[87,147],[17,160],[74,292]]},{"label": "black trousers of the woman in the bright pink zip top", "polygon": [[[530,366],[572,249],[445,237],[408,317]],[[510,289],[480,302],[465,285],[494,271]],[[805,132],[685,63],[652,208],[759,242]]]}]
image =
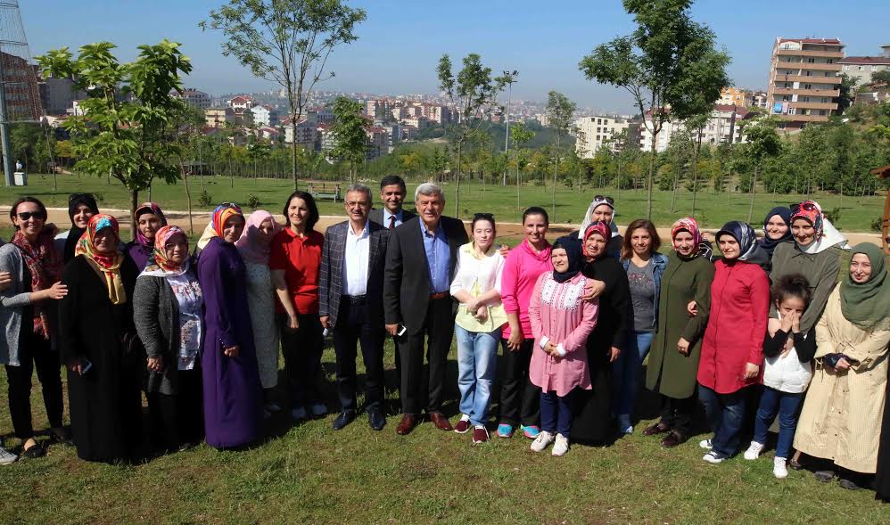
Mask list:
[{"label": "black trousers of the woman in the bright pink zip top", "polygon": [[540,419],[540,388],[529,381],[529,365],[532,363],[533,339],[523,340],[515,352],[507,347],[507,340],[500,340],[503,355],[500,358],[500,416],[499,422],[516,426],[537,425]]}]

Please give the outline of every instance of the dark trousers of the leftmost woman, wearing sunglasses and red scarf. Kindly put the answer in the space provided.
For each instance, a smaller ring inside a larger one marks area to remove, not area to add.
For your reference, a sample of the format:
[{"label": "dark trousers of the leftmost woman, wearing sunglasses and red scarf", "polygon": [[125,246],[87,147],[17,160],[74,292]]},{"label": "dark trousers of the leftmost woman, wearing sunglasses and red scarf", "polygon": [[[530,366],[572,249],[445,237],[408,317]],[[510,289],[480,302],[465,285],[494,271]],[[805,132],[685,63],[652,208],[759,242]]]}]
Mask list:
[{"label": "dark trousers of the leftmost woman, wearing sunglasses and red scarf", "polygon": [[[59,352],[50,342],[31,332],[30,320],[21,324],[19,366],[6,365],[6,381],[9,387],[9,415],[12,429],[18,439],[34,437],[31,424],[31,376],[37,368],[37,380],[43,390],[44,406],[49,425],[62,427],[62,371]],[[24,333],[27,331],[27,333]]]}]

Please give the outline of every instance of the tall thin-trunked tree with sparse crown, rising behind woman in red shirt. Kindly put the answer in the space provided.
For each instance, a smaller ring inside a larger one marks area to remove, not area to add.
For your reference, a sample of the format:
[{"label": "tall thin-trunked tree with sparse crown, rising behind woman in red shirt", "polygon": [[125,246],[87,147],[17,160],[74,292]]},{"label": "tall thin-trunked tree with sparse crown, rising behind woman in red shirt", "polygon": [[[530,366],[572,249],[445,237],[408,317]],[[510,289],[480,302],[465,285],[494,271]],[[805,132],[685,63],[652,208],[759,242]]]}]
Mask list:
[{"label": "tall thin-trunked tree with sparse crown, rising behind woman in red shirt", "polygon": [[[325,72],[334,48],[358,37],[364,9],[341,0],[228,0],[201,29],[218,29],[226,41],[224,56],[235,56],[253,76],[284,88],[294,139],[297,122],[318,82],[334,77]],[[291,176],[297,189],[297,141],[291,144]]]}]

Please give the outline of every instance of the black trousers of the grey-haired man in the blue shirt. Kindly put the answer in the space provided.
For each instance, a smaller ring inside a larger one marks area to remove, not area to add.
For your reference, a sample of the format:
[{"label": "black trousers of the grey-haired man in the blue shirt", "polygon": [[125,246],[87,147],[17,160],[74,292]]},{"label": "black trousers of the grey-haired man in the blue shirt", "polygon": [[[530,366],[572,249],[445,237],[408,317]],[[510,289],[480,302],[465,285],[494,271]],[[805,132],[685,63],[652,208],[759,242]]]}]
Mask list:
[{"label": "black trousers of the grey-haired man in the blue shirt", "polygon": [[[408,326],[412,331],[415,327]],[[428,378],[426,412],[441,412],[442,390],[451,338],[454,336],[454,315],[451,298],[431,299],[426,308],[426,322],[418,332],[400,338],[401,404],[405,414],[419,414],[424,403],[424,377]],[[429,373],[424,373],[424,343]]]}]

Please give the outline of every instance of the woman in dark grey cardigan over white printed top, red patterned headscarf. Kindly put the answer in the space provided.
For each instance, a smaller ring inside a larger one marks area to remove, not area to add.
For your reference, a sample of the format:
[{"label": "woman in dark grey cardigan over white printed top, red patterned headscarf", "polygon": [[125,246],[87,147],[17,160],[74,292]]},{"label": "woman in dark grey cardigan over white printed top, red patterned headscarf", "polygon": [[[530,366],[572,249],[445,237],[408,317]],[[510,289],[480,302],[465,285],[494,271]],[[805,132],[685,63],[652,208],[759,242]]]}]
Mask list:
[{"label": "woman in dark grey cardigan over white printed top, red patterned headscarf", "polygon": [[185,232],[161,226],[154,235],[154,255],[133,291],[133,319],[147,357],[145,397],[156,450],[185,450],[202,439],[198,353],[203,305]]}]

